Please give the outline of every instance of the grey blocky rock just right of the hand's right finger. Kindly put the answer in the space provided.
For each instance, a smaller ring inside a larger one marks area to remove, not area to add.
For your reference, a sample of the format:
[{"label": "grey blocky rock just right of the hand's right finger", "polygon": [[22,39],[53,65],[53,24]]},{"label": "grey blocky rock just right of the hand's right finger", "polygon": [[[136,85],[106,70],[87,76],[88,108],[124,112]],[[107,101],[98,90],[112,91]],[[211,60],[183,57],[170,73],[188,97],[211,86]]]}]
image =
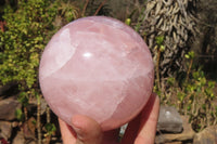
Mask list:
[{"label": "grey blocky rock just right of the hand's right finger", "polygon": [[161,106],[157,130],[169,133],[182,131],[182,119],[175,107]]}]

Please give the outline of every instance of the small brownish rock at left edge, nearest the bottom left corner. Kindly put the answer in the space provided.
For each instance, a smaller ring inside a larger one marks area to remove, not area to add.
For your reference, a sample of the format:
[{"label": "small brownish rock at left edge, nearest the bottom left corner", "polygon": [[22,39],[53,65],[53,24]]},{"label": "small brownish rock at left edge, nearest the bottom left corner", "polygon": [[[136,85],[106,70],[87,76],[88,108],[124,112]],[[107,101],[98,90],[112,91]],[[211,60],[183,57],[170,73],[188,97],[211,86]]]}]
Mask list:
[{"label": "small brownish rock at left edge, nearest the bottom left corner", "polygon": [[9,140],[11,138],[12,126],[9,121],[0,121],[0,138]]}]

